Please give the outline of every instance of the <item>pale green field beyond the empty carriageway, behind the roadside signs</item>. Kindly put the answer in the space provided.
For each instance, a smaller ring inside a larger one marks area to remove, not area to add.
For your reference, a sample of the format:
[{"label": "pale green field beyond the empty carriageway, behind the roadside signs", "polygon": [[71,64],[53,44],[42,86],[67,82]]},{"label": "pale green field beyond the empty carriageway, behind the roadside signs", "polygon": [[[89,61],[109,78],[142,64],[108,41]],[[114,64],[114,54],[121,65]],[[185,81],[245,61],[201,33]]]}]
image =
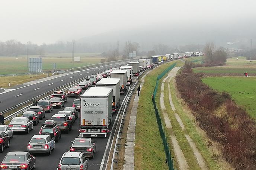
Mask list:
[{"label": "pale green field beyond the empty carriageway, behind the roadside signs", "polygon": [[[75,53],[80,56],[81,62],[72,63],[71,53],[47,54],[42,57],[43,71],[52,71],[53,63],[56,63],[57,70],[67,70],[74,67],[82,67],[90,64],[100,63],[105,57],[99,57],[99,53]],[[29,55],[38,57],[38,55]],[[0,57],[0,74],[27,73],[27,56],[19,55],[16,57]]]}]

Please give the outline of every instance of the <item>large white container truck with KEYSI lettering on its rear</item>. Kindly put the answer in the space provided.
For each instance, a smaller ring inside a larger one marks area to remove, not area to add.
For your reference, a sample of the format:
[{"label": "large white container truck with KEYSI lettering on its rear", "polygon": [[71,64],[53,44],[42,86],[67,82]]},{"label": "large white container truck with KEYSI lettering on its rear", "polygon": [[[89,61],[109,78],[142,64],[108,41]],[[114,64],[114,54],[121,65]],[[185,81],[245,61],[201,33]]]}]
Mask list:
[{"label": "large white container truck with KEYSI lettering on its rear", "polygon": [[107,137],[112,121],[113,88],[90,87],[80,97],[81,137]]}]

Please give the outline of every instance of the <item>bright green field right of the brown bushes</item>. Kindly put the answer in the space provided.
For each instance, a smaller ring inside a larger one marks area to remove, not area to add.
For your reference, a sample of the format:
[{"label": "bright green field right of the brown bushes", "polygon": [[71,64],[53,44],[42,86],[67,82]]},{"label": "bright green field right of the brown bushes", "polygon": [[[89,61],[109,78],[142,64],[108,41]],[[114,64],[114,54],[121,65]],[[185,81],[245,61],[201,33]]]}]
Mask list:
[{"label": "bright green field right of the brown bushes", "polygon": [[202,81],[218,92],[231,94],[232,99],[256,119],[256,77],[207,77]]}]

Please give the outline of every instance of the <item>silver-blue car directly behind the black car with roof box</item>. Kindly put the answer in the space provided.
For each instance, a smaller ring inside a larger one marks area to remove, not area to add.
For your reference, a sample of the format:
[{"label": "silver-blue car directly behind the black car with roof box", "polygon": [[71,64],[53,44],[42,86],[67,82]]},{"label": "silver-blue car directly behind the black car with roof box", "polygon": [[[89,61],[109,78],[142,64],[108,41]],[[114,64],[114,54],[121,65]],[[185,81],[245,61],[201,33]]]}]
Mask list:
[{"label": "silver-blue car directly behind the black car with roof box", "polygon": [[50,135],[34,135],[27,145],[29,153],[48,153],[55,148],[55,141]]}]

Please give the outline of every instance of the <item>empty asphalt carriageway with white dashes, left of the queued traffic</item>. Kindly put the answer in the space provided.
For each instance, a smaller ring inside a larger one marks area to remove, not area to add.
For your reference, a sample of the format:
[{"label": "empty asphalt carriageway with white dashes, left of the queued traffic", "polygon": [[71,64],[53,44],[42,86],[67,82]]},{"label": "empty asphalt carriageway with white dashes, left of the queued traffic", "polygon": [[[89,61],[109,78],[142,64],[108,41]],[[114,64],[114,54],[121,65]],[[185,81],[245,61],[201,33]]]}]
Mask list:
[{"label": "empty asphalt carriageway with white dashes, left of the queued traffic", "polygon": [[[138,59],[132,59],[138,60]],[[19,85],[15,90],[0,94],[0,112],[6,109],[9,109],[19,103],[25,102],[33,97],[38,96],[39,94],[43,94],[52,89],[60,87],[64,84],[75,81],[79,78],[85,78],[92,74],[103,72],[104,70],[110,70],[111,68],[119,67],[120,65],[126,65],[128,62],[132,61],[116,61],[113,64],[106,64],[103,66],[95,66],[93,68],[88,68],[82,71],[75,71],[73,74],[65,75],[62,77],[57,77],[54,79],[49,78],[46,81],[36,81],[36,84],[32,85]]]}]

